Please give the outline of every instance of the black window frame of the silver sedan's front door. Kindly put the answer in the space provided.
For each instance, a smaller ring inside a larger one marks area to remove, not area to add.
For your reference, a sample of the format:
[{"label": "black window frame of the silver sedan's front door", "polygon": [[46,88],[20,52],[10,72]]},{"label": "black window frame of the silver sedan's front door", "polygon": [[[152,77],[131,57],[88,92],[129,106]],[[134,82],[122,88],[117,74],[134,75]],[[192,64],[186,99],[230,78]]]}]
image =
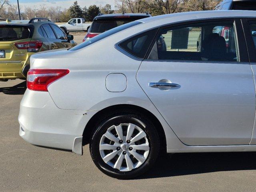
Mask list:
[{"label": "black window frame of the silver sedan's front door", "polygon": [[249,57],[249,61],[251,63],[256,63],[256,49],[254,45],[254,41],[252,39],[252,34],[250,33],[250,25],[249,22],[256,22],[255,18],[242,18],[242,27],[244,30],[244,38],[245,38],[245,43],[247,46],[247,53]]}]

